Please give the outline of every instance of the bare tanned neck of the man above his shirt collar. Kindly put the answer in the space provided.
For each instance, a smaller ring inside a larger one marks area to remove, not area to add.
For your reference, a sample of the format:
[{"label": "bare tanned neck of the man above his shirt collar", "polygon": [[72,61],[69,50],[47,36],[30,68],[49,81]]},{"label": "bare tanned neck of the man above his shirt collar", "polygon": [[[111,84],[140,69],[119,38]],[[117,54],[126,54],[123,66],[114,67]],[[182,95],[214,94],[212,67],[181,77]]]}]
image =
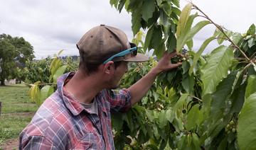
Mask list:
[{"label": "bare tanned neck of the man above his shirt collar", "polygon": [[97,75],[89,76],[82,71],[77,71],[65,88],[81,103],[92,103],[93,98],[102,91],[103,86]]}]

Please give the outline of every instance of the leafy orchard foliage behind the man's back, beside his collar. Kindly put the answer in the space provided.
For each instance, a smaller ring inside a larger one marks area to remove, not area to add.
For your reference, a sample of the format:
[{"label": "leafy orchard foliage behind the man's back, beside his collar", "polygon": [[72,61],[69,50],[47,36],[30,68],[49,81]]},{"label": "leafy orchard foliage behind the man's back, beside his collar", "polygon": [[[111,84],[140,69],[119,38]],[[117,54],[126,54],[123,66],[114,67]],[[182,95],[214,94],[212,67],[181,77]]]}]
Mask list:
[{"label": "leafy orchard foliage behind the man's back, beside his collar", "polygon": [[[61,52],[58,52],[58,55]],[[28,95],[38,106],[55,91],[59,76],[78,68],[78,60],[73,60],[72,57],[61,58],[58,55],[36,62],[27,62],[27,83],[35,82],[30,84]]]}]

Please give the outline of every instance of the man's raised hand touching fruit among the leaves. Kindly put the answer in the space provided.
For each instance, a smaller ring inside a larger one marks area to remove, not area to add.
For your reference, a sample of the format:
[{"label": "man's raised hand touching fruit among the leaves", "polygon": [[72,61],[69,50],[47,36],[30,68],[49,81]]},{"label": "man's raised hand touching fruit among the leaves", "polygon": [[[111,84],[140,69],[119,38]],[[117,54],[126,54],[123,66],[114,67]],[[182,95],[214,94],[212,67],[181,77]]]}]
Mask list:
[{"label": "man's raised hand touching fruit among the leaves", "polygon": [[171,64],[171,58],[176,56],[176,52],[164,52],[164,56],[161,57],[158,64],[154,68],[157,74],[161,73],[162,71],[169,71],[171,69],[175,69],[181,66],[182,62],[178,62],[177,64]]}]

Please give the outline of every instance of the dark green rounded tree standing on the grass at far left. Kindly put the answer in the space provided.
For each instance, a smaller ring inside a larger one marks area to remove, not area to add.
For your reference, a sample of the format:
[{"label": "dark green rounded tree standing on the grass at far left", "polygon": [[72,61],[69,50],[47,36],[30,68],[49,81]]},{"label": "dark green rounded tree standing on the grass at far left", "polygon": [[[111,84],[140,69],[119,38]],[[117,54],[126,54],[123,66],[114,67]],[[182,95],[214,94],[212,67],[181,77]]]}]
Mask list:
[{"label": "dark green rounded tree standing on the grass at far left", "polygon": [[1,85],[5,79],[18,78],[17,67],[23,69],[25,62],[34,57],[33,47],[23,37],[0,35]]}]

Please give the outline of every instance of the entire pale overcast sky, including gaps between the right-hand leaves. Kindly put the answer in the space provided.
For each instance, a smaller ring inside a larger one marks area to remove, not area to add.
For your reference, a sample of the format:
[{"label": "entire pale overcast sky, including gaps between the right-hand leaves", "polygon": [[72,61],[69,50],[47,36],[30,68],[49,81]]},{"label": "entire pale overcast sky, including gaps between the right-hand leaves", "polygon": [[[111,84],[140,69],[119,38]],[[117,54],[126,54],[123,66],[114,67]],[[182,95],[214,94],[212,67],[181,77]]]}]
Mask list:
[{"label": "entire pale overcast sky, including gaps between the right-hand leaves", "polygon": [[[181,9],[187,3],[181,0]],[[229,30],[245,33],[256,23],[253,0],[193,0],[208,16]],[[24,37],[34,47],[36,59],[64,50],[78,55],[76,42],[90,28],[100,25],[120,28],[132,39],[131,15],[119,13],[109,0],[0,0],[0,34]],[[194,39],[195,50],[213,34],[213,26],[201,30]],[[208,50],[215,47],[209,45]]]}]

